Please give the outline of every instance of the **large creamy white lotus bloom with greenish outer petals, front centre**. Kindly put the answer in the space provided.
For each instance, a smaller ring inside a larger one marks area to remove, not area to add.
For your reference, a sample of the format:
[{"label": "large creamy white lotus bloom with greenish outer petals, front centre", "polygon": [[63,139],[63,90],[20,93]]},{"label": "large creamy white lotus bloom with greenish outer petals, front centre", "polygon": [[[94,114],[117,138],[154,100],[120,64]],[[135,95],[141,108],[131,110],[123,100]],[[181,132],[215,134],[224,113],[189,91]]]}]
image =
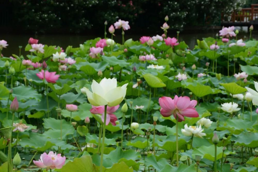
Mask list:
[{"label": "large creamy white lotus bloom with greenish outer petals, front centre", "polygon": [[92,81],[92,92],[86,87],[83,87],[81,92],[87,94],[88,101],[93,106],[108,105],[112,107],[124,100],[127,85],[124,84],[122,87],[117,87],[117,80],[115,78],[103,78],[100,83],[97,83],[95,80]]}]

